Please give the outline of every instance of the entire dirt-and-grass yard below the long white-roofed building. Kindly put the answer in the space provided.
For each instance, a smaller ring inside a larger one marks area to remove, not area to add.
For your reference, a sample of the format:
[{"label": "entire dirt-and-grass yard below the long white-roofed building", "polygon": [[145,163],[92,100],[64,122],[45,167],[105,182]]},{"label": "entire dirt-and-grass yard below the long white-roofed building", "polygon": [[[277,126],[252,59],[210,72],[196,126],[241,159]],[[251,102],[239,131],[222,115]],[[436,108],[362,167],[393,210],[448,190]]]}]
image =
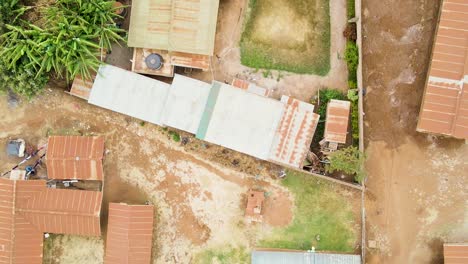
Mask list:
[{"label": "entire dirt-and-grass yard below the long white-roofed building", "polygon": [[[354,189],[294,173],[278,180],[274,166],[192,137],[183,145],[170,131],[55,87],[16,108],[0,96],[0,145],[15,137],[38,145],[50,134],[105,136],[104,235],[53,235],[45,240],[44,263],[102,263],[108,203],[146,200],[157,208],[153,263],[248,263],[252,247],[262,245],[346,252],[359,247],[360,193]],[[17,162],[3,151],[0,159],[1,171]],[[264,222],[257,225],[244,222],[250,188],[267,193]]]}]

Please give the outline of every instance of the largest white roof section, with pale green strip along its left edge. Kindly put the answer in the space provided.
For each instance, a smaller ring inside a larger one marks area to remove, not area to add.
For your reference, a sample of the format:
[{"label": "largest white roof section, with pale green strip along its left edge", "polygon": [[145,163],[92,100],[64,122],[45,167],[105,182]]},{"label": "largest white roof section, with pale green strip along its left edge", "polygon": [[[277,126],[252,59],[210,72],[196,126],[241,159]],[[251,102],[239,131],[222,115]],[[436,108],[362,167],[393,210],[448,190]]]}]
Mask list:
[{"label": "largest white roof section, with pale green strip along its left edge", "polygon": [[284,106],[213,82],[197,138],[267,160]]}]

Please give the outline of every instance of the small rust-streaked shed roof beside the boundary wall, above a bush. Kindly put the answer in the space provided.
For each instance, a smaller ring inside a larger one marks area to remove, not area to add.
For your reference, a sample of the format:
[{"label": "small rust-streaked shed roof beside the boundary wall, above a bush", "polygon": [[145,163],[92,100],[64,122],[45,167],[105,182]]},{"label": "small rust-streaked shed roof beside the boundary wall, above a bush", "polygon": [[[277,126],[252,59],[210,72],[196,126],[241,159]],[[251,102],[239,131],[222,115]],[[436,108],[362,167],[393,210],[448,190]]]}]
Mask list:
[{"label": "small rust-streaked shed roof beside the boundary wall, above a bush", "polygon": [[327,106],[327,120],[324,138],[328,142],[345,144],[348,135],[349,101],[330,100]]}]

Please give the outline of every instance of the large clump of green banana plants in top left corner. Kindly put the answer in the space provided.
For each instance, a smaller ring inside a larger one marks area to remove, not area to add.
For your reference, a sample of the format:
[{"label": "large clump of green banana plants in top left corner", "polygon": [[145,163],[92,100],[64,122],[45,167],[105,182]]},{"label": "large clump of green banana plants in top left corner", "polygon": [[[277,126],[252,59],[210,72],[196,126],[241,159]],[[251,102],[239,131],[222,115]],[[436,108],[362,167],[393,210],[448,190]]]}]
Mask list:
[{"label": "large clump of green banana plants in top left corner", "polygon": [[[98,56],[102,49],[110,49],[112,42],[123,40],[118,34],[122,30],[114,23],[118,15],[114,13],[113,3],[107,0],[57,0],[43,10],[44,28],[21,19],[13,20],[16,23],[9,21],[11,24],[5,25],[6,33],[0,38],[2,71],[21,72],[32,77],[38,85],[50,72],[58,77],[65,76],[67,80],[77,75],[91,79],[93,71],[101,64]],[[10,16],[24,13],[25,8],[20,7],[17,0],[10,0],[10,4],[16,8]],[[25,85],[13,90],[33,96],[38,87]]]}]

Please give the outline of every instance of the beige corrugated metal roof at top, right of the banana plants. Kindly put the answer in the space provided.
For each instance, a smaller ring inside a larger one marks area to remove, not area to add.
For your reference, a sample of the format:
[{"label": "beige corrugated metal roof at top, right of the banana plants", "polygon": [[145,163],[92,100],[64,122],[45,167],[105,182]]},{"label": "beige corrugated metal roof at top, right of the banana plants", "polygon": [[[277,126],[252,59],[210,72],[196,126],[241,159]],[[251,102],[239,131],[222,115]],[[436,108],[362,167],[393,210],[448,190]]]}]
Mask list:
[{"label": "beige corrugated metal roof at top, right of the banana plants", "polygon": [[219,0],[132,3],[128,46],[213,55]]}]

